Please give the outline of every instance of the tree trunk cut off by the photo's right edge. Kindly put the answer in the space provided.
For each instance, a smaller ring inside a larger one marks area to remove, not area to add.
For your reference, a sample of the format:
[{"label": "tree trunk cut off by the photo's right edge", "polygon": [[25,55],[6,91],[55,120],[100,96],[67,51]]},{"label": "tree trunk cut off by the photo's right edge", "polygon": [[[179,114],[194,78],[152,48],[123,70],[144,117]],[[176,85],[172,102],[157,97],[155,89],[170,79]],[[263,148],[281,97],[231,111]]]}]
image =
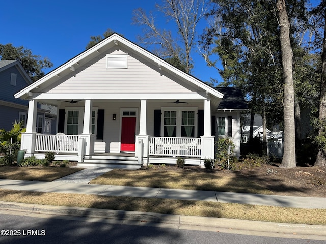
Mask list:
[{"label": "tree trunk cut off by the photo's right edge", "polygon": [[[322,44],[322,70],[321,70],[321,82],[320,82],[320,104],[319,104],[319,121],[323,121],[326,118],[326,22],[324,25],[324,39]],[[322,123],[323,124],[323,123]],[[324,134],[325,128],[319,126],[318,135]],[[325,153],[318,148],[317,158],[314,166],[326,166]]]}]

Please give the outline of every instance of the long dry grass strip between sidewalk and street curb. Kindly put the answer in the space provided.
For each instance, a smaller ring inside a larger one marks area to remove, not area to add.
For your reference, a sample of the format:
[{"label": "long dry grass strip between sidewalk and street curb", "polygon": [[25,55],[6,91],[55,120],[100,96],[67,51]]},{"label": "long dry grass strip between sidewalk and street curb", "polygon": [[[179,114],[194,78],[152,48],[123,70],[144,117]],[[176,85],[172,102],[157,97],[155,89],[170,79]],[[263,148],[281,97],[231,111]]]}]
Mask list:
[{"label": "long dry grass strip between sidewalk and street curb", "polygon": [[0,201],[158,212],[280,223],[326,225],[326,209],[298,209],[189,200],[0,190]]}]

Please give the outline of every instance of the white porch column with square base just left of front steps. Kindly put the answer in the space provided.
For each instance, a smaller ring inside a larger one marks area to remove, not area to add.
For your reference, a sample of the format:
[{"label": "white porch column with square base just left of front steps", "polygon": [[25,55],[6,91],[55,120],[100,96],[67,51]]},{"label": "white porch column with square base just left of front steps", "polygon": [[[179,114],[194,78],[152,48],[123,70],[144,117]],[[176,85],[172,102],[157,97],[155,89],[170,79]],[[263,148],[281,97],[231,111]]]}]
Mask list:
[{"label": "white porch column with square base just left of front steps", "polygon": [[92,105],[92,100],[85,100],[83,133],[79,134],[79,139],[85,139],[85,158],[91,158],[91,155],[94,154],[95,135],[92,134]]}]

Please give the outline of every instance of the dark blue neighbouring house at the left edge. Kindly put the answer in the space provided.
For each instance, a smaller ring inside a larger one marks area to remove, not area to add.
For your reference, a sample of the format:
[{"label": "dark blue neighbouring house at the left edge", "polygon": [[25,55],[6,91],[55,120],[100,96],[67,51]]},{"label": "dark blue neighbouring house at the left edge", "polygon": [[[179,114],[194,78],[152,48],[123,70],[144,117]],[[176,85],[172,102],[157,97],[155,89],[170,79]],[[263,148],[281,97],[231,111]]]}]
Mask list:
[{"label": "dark blue neighbouring house at the left edge", "polygon": [[[18,60],[0,61],[0,129],[11,130],[15,121],[22,121],[23,127],[26,125],[29,102],[15,99],[14,94],[22,88],[32,84],[32,80],[23,69]],[[35,131],[43,133],[44,120],[48,110],[36,111],[37,123]]]}]

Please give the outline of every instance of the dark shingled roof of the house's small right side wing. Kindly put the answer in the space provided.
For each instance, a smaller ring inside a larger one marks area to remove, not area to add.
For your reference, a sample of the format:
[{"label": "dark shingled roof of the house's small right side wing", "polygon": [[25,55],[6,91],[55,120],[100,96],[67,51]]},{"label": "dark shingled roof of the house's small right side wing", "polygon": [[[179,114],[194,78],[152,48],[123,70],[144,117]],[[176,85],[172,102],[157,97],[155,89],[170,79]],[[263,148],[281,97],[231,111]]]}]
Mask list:
[{"label": "dark shingled roof of the house's small right side wing", "polygon": [[243,98],[242,92],[236,87],[217,87],[224,97],[218,106],[218,110],[247,110],[248,105]]}]

